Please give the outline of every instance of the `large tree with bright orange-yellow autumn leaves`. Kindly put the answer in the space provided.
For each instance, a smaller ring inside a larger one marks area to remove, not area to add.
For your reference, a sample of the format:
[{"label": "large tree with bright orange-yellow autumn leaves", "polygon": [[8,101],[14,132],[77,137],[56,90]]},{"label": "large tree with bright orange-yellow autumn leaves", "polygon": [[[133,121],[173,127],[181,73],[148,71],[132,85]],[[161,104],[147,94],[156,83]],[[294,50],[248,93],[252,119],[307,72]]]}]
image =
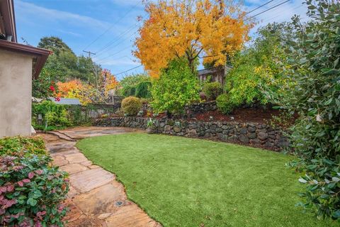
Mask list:
[{"label": "large tree with bright orange-yellow autumn leaves", "polygon": [[135,40],[134,55],[152,77],[176,57],[186,57],[192,70],[198,58],[215,66],[242,48],[251,23],[233,1],[159,0],[145,5],[149,18]]}]

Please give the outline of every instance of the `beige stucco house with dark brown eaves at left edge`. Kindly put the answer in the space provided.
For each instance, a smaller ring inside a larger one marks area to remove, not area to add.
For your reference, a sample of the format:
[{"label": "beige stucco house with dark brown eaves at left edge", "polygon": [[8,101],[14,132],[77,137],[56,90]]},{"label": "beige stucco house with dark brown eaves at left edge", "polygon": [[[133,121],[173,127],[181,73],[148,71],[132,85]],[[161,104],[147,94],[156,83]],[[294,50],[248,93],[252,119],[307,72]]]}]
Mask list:
[{"label": "beige stucco house with dark brown eaves at left edge", "polygon": [[13,0],[0,0],[0,138],[30,135],[32,78],[49,50],[17,43]]}]

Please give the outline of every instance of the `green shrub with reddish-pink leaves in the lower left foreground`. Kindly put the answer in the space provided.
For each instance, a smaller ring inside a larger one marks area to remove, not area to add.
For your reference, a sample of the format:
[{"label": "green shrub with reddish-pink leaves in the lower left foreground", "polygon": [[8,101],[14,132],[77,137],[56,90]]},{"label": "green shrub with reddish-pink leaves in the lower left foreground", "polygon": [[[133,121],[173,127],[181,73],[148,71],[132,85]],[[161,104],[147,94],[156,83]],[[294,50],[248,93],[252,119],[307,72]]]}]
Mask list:
[{"label": "green shrub with reddish-pink leaves in the lower left foreground", "polygon": [[35,145],[30,140],[0,140],[6,153],[11,153],[0,156],[0,225],[63,226],[67,209],[61,203],[69,190],[67,175],[51,167],[50,156],[25,150],[41,147],[39,139]]}]

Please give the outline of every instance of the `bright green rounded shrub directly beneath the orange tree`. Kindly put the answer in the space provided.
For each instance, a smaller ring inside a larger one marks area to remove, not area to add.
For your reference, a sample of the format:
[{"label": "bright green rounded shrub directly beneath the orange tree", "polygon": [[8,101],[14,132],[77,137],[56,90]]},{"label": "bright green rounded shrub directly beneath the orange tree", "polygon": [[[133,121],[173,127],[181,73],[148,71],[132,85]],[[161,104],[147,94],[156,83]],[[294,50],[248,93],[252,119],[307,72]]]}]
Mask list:
[{"label": "bright green rounded shrub directly beneath the orange tree", "polygon": [[183,59],[173,60],[162,70],[158,79],[152,82],[152,102],[154,111],[169,111],[180,114],[184,106],[199,101],[200,83],[196,74]]}]

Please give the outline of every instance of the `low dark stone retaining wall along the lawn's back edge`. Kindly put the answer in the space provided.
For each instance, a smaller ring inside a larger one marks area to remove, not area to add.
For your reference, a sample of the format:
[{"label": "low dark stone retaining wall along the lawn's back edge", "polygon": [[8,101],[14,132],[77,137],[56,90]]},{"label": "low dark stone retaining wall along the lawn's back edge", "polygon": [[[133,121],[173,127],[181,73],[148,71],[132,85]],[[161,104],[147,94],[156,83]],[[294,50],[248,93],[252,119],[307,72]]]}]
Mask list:
[{"label": "low dark stone retaining wall along the lawn's back edge", "polygon": [[[147,128],[147,118],[109,117],[96,119],[95,126]],[[186,121],[160,118],[155,120],[155,132],[182,135],[191,138],[210,138],[229,143],[241,143],[280,150],[289,145],[288,139],[278,129],[262,123],[239,123],[236,121]]]}]

